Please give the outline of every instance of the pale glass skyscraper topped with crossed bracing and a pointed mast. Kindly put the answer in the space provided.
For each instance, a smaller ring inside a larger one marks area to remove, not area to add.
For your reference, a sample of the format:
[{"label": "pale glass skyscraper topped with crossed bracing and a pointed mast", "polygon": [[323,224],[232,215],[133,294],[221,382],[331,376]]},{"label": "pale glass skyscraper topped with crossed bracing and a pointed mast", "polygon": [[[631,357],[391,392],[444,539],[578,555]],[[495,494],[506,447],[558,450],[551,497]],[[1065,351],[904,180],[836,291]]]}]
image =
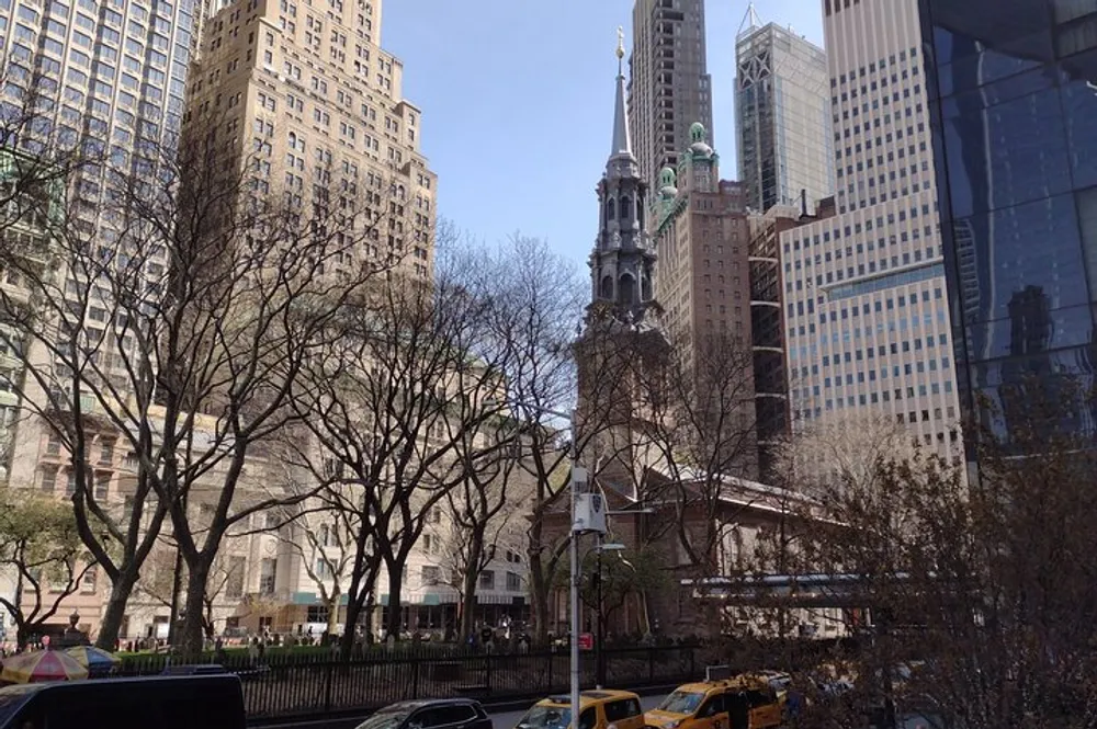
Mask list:
[{"label": "pale glass skyscraper topped with crossed bracing and a pointed mast", "polygon": [[751,3],[735,39],[735,122],[747,205],[816,201],[834,191],[828,71],[823,49],[792,32],[760,25]]}]

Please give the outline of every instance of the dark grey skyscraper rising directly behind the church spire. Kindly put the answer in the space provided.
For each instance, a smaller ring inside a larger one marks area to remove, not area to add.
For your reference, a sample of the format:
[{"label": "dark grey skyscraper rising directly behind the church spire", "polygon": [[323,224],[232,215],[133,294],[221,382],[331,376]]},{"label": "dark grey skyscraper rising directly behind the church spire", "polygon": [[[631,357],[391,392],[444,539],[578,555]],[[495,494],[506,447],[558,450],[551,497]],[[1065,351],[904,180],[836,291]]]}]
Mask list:
[{"label": "dark grey skyscraper rising directly behind the church spire", "polygon": [[[678,166],[690,126],[712,129],[703,0],[636,0],[632,10],[629,113],[640,172],[654,190]],[[712,140],[709,140],[712,144]]]}]

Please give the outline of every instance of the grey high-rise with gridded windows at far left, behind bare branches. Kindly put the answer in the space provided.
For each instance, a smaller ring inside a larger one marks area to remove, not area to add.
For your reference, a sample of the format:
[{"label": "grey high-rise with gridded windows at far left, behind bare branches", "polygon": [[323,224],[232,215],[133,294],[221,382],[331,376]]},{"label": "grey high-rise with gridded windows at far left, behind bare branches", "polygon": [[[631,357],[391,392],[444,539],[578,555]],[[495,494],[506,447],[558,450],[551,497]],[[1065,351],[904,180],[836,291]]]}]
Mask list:
[{"label": "grey high-rise with gridded windows at far left, behind bare branches", "polygon": [[[116,206],[106,204],[112,196],[121,198],[115,194],[120,179],[146,174],[149,158],[170,158],[176,149],[193,24],[190,3],[167,0],[81,0],[71,8],[15,0],[0,8],[0,27],[7,29],[0,54],[4,75],[0,145],[8,147],[2,152],[4,194],[53,179],[52,186],[58,187],[53,194],[64,200],[60,217],[68,244],[75,239],[84,241],[99,251],[100,261],[114,257],[118,227],[125,226]],[[49,236],[57,227],[26,226],[7,218],[7,252],[16,249],[19,238],[48,251],[56,242]],[[148,263],[146,274],[151,277],[162,271],[167,258],[150,253]],[[87,272],[76,269],[63,258],[53,264],[56,278],[44,277],[48,285],[33,293],[41,296],[45,288],[87,294]],[[20,281],[11,270],[3,275],[8,300],[30,300],[31,284],[25,278]],[[95,288],[90,291],[95,306],[87,311],[68,309],[66,323],[102,332],[108,307],[94,300],[102,298]],[[37,391],[35,383],[26,375],[20,385],[22,368],[16,372],[15,357],[4,356],[8,353],[2,350],[12,349],[16,339],[13,330],[0,339],[9,343],[0,346],[0,424],[10,428],[0,433],[0,441],[9,444],[13,456],[10,481],[47,492],[54,492],[56,485],[57,493],[64,494],[71,469],[58,468],[56,452],[47,445],[49,429],[27,407],[26,390]],[[126,342],[132,344],[132,338],[103,343],[101,362],[114,361]],[[68,371],[64,357],[42,341],[27,338],[25,346],[25,356],[20,357],[24,362],[43,363],[44,369],[44,363],[53,363],[56,372]],[[22,401],[14,395],[19,389]],[[16,423],[14,412],[21,407],[26,417]],[[103,478],[111,477],[112,471],[104,469]]]}]

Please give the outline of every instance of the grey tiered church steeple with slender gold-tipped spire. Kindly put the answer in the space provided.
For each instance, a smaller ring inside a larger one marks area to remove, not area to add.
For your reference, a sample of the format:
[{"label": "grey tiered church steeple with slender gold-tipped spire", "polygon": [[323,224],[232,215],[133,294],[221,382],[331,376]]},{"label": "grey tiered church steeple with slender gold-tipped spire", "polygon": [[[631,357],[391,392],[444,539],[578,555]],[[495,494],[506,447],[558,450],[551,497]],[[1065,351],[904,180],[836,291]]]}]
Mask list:
[{"label": "grey tiered church steeple with slender gold-tipped spire", "polygon": [[640,323],[655,299],[655,251],[644,220],[647,185],[629,138],[624,31],[618,29],[613,145],[598,183],[599,230],[590,253],[591,308],[601,306],[624,323]]}]

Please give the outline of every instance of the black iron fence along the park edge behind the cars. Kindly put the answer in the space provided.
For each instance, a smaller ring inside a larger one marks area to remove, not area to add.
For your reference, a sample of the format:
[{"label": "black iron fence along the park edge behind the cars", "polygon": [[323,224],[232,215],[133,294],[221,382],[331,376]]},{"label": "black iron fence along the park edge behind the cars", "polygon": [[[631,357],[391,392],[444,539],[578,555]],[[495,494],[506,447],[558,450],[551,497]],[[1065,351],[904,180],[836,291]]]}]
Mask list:
[{"label": "black iron fence along the park edge behind the cars", "polygon": [[[638,688],[683,682],[703,671],[693,646],[607,648],[607,685]],[[207,657],[213,662],[212,657]],[[132,657],[121,675],[163,672],[166,657]],[[338,660],[326,653],[227,654],[224,668],[240,676],[249,722],[367,713],[410,698],[470,696],[507,700],[565,693],[566,649],[529,653],[411,656],[383,651]],[[595,654],[581,656],[581,682],[595,684]]]}]

